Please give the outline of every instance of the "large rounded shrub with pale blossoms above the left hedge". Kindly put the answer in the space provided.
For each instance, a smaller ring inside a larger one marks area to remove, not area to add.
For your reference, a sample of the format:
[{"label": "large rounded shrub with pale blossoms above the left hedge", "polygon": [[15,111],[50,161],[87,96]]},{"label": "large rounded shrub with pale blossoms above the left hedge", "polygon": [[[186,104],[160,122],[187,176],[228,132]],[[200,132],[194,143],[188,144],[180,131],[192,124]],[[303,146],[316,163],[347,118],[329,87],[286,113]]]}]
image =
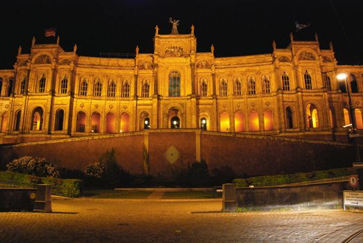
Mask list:
[{"label": "large rounded shrub with pale blossoms above the left hedge", "polygon": [[45,158],[37,158],[24,156],[16,160],[12,160],[6,165],[8,171],[23,174],[31,174],[34,176],[52,176],[59,177],[59,171]]}]

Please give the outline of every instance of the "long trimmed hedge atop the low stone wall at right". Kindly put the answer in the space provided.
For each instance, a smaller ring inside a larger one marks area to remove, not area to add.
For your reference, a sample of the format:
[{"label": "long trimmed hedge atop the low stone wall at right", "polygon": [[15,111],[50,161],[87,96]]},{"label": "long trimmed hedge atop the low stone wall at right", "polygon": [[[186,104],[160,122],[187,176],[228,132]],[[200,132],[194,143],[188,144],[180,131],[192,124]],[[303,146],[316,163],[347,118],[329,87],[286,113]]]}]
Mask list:
[{"label": "long trimmed hedge atop the low stone wall at right", "polygon": [[304,181],[323,180],[328,178],[337,178],[341,176],[350,176],[356,174],[353,168],[328,169],[324,171],[312,171],[307,173],[296,174],[278,174],[274,176],[256,176],[251,178],[237,178],[233,180],[235,187],[248,187],[249,185],[262,187],[268,185],[281,185],[290,183],[300,183]]}]

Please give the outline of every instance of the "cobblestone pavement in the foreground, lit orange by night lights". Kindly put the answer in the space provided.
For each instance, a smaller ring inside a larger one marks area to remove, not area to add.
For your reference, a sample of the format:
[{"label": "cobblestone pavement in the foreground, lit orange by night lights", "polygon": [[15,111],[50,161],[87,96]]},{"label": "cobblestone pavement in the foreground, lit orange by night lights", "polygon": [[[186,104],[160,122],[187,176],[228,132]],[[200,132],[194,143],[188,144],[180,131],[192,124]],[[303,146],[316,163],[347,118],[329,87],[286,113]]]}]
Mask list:
[{"label": "cobblestone pavement in the foreground, lit orange by night lights", "polygon": [[363,229],[363,213],[221,213],[221,200],[57,199],[52,207],[0,212],[0,242],[341,242]]}]

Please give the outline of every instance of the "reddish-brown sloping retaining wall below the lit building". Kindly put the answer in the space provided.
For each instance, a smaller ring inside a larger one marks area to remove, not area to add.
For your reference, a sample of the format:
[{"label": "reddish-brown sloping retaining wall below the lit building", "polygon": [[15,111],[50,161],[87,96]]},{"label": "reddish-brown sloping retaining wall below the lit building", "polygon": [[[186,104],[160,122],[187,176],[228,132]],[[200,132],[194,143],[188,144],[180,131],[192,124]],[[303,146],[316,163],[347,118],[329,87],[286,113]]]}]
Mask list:
[{"label": "reddish-brown sloping retaining wall below the lit building", "polygon": [[133,174],[140,174],[144,149],[148,149],[150,171],[156,175],[173,162],[167,159],[171,146],[175,149],[169,157],[177,156],[174,165],[204,159],[210,169],[228,165],[249,176],[350,167],[354,161],[353,147],[338,142],[201,132],[199,129],[151,129],[2,145],[0,169],[6,169],[9,161],[20,156],[40,156],[58,167],[83,170],[107,149],[115,148],[121,166]]}]

